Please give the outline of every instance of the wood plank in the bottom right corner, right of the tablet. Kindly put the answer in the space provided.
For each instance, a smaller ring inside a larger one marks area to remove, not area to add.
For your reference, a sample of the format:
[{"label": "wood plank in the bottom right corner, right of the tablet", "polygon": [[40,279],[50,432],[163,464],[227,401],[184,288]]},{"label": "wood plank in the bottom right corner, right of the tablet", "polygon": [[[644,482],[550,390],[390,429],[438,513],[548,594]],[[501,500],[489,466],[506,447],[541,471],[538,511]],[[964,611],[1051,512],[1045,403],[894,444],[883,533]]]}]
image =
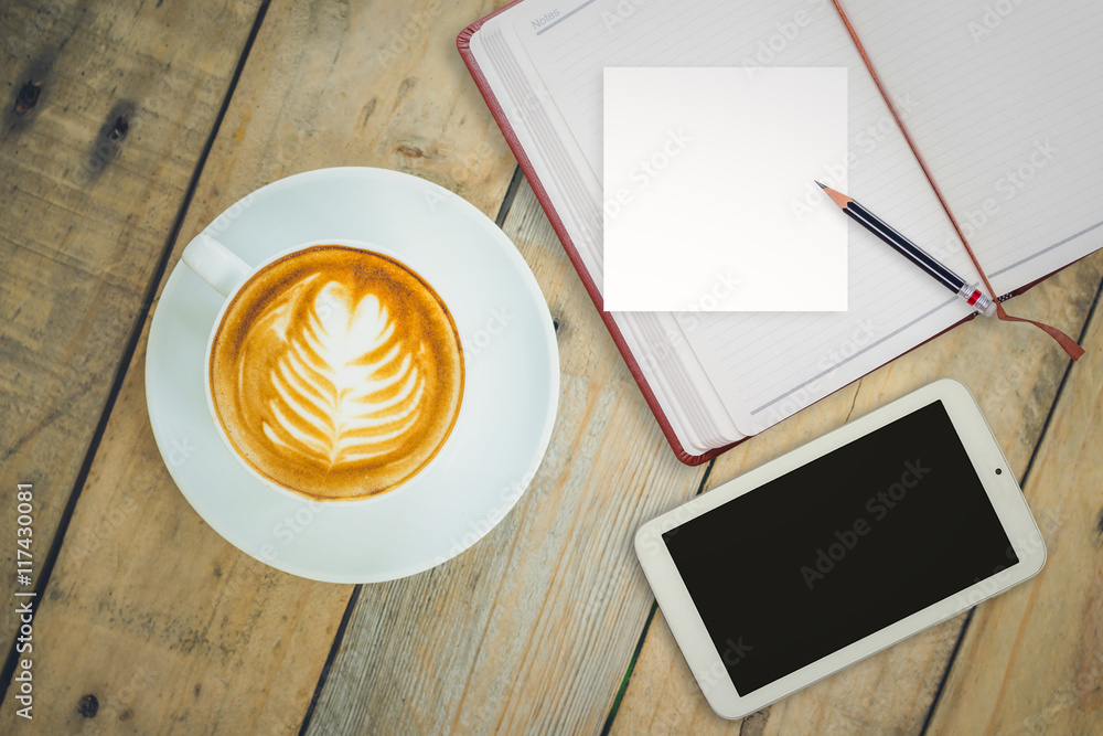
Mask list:
[{"label": "wood plank in the bottom right corner, right of the tablet", "polygon": [[1046,567],[977,608],[932,733],[1103,733],[1100,306],[1084,344],[1089,355],[1069,374],[1024,488]]}]

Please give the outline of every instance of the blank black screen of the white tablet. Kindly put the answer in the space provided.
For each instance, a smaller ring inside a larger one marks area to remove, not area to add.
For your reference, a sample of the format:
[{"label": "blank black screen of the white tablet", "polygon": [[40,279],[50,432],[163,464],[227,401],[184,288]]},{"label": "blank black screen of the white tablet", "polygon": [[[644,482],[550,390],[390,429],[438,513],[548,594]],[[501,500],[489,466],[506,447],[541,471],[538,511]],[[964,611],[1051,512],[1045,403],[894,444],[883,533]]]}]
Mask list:
[{"label": "blank black screen of the white tablet", "polygon": [[1018,563],[941,401],[663,540],[740,695]]}]

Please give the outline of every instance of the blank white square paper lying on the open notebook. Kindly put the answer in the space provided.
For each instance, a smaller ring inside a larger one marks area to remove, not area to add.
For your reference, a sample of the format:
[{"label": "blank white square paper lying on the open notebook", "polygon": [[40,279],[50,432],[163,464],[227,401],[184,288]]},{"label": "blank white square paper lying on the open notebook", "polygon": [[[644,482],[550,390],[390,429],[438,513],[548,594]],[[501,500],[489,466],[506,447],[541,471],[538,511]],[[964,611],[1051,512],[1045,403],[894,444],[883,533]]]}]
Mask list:
[{"label": "blank white square paper lying on the open notebook", "polygon": [[845,311],[845,67],[604,70],[604,309]]}]

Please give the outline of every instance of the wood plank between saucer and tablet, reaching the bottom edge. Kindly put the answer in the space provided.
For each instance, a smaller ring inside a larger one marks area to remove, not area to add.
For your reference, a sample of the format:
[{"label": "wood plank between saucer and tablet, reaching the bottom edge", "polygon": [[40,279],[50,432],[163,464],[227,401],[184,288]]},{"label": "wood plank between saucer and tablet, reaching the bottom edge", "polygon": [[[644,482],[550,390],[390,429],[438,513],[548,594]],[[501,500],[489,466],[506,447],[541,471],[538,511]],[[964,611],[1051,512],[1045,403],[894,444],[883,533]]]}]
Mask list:
[{"label": "wood plank between saucer and tablet, reaching the bottom edge", "polygon": [[505,232],[558,321],[552,446],[474,547],[364,588],[310,734],[596,733],[639,641],[632,534],[704,469],[671,452],[527,183]]}]

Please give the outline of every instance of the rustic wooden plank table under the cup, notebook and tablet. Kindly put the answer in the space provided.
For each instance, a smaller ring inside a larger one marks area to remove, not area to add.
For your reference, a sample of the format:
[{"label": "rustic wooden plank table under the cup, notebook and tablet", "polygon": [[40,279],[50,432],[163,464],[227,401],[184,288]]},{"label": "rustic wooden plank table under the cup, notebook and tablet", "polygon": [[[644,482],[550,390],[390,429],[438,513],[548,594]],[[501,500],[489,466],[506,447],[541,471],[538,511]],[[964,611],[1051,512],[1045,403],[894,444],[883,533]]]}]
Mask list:
[{"label": "rustic wooden plank table under the cup, notebook and tablet", "polygon": [[[14,570],[33,483],[33,715],[2,733],[1103,733],[1103,254],[717,461],[677,462],[456,52],[500,2],[0,8],[0,477]],[[224,542],[146,413],[150,316],[183,244],[322,167],[437,182],[496,217],[557,323],[552,446],[459,557],[312,583]],[[1096,235],[1095,237],[1099,237]],[[1049,545],[1013,591],[757,713],[706,705],[631,550],[646,519],[941,376],[976,394]]]}]

